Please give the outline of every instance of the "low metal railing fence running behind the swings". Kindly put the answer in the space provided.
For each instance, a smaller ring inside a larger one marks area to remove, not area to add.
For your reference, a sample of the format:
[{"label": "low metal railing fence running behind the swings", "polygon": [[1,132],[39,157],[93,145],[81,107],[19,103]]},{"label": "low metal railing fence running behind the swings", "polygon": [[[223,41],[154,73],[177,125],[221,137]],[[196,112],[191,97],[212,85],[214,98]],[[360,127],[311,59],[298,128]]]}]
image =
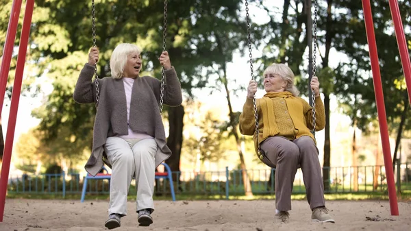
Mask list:
[{"label": "low metal railing fence running behind the swings", "polygon": [[[386,173],[384,165],[358,167],[327,167],[323,173],[329,174],[325,193],[386,193]],[[356,180],[354,177],[358,175]],[[247,176],[254,195],[273,195],[275,193],[275,169],[249,169]],[[194,172],[173,172],[175,193],[178,195],[218,196],[244,195],[244,174],[241,170]],[[178,180],[176,180],[178,179]],[[411,194],[411,169],[409,163],[395,168],[397,191]],[[108,194],[107,180],[88,180],[87,195]],[[41,174],[10,176],[8,193],[80,195],[83,178],[79,173]],[[129,194],[135,193],[130,187]],[[295,175],[292,193],[305,193],[301,169]],[[155,195],[169,195],[169,184],[164,179],[156,180]],[[135,195],[135,194],[134,194]]]}]

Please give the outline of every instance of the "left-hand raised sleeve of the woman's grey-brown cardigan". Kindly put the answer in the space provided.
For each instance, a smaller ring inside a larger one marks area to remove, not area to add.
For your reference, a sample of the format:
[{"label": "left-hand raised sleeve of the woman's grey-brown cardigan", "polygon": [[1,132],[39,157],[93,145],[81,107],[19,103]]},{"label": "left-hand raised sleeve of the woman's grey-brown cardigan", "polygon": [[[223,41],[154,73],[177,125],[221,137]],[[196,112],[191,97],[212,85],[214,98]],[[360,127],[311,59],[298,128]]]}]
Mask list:
[{"label": "left-hand raised sleeve of the woman's grey-brown cardigan", "polygon": [[95,102],[95,84],[91,81],[94,71],[94,66],[87,63],[80,71],[73,93],[74,101],[79,104],[92,104]]}]

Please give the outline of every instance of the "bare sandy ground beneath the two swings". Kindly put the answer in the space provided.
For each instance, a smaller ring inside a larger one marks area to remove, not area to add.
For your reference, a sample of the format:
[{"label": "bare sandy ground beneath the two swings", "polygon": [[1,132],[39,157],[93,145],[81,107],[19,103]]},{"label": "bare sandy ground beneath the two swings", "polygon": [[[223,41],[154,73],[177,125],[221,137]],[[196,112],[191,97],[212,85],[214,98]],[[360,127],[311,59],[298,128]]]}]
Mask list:
[{"label": "bare sandy ground beneath the two swings", "polygon": [[[107,230],[107,206],[107,201],[6,199],[0,230]],[[271,200],[155,201],[154,223],[138,227],[134,202],[128,202],[129,215],[115,230],[411,230],[411,202],[399,202],[399,216],[391,216],[388,201],[329,201],[336,223],[312,222],[305,201],[293,201],[290,222],[280,223],[274,206]]]}]

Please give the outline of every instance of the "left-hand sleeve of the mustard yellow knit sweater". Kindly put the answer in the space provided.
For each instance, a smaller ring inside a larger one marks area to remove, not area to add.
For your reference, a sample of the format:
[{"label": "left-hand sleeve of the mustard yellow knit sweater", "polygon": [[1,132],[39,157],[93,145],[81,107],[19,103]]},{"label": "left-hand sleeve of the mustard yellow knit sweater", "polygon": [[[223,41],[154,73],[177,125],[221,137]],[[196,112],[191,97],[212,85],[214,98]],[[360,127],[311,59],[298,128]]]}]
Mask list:
[{"label": "left-hand sleeve of the mustard yellow knit sweater", "polygon": [[256,115],[254,114],[253,99],[247,97],[240,114],[240,132],[252,136],[256,132]]}]

